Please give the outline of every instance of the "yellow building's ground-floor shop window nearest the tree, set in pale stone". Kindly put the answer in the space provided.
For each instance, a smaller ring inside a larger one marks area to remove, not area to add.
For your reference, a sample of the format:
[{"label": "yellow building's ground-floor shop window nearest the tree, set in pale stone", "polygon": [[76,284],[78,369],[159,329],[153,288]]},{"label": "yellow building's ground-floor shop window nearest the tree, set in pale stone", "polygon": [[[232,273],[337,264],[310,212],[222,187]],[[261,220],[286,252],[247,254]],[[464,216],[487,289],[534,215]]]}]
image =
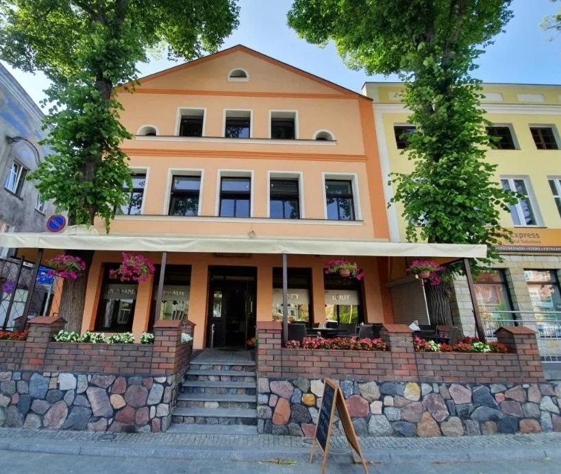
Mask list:
[{"label": "yellow building's ground-floor shop window nearest the tree, set in pale stone", "polygon": [[513,319],[512,304],[503,270],[482,272],[475,277],[475,296],[482,319]]}]

